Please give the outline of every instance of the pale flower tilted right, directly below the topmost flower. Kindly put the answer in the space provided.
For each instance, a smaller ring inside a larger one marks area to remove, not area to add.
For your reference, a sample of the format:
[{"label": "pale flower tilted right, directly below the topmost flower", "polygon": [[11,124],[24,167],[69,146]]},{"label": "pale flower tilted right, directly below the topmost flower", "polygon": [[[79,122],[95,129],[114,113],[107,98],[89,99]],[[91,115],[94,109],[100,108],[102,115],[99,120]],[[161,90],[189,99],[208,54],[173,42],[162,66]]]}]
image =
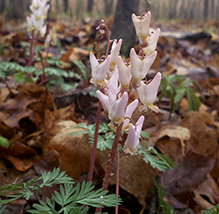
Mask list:
[{"label": "pale flower tilted right, directly below the topmost flower", "polygon": [[143,51],[144,51],[144,54],[147,56],[147,55],[150,55],[152,54],[156,47],[157,47],[157,42],[158,42],[158,39],[159,39],[159,36],[160,36],[160,28],[158,28],[154,34],[148,36],[147,38],[147,47],[143,48]]}]

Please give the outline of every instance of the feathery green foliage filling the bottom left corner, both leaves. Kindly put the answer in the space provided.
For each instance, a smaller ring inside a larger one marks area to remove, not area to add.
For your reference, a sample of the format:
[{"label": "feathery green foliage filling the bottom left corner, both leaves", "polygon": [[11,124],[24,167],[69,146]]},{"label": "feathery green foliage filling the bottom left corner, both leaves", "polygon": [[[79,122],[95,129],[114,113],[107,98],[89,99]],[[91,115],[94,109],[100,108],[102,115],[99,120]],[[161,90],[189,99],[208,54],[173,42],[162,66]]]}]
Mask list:
[{"label": "feathery green foliage filling the bottom left corner, both leaves", "polygon": [[[60,193],[55,191],[51,200],[46,199],[46,202],[39,201],[39,204],[33,204],[35,210],[28,210],[30,213],[48,214],[48,213],[86,213],[88,207],[102,207],[102,206],[116,206],[121,202],[121,199],[114,195],[106,195],[108,191],[102,189],[93,190],[92,182],[86,183],[85,181],[76,187],[73,186],[74,182],[71,177],[68,177],[65,172],[60,172],[59,168],[55,168],[53,172],[41,172],[42,176],[31,179],[26,183],[9,184],[0,187],[0,196],[5,196],[9,199],[0,201],[0,205],[9,203],[19,198],[29,200],[31,196],[39,198],[38,192],[41,188],[46,186],[60,185]],[[41,183],[39,184],[39,182]],[[7,193],[14,191],[12,195]],[[57,206],[58,205],[58,206]],[[57,208],[58,207],[58,208]],[[4,207],[0,209],[3,213]]]}]

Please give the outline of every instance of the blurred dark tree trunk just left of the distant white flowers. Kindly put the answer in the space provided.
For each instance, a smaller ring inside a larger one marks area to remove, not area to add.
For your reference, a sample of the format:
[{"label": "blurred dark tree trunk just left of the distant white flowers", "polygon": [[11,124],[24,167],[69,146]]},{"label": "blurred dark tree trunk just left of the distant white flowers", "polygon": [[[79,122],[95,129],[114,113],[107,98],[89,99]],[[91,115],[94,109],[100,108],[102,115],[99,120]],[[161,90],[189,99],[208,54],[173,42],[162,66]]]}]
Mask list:
[{"label": "blurred dark tree trunk just left of the distant white flowers", "polygon": [[[2,1],[2,0],[1,0]],[[9,0],[10,19],[23,19],[24,18],[24,0]]]}]

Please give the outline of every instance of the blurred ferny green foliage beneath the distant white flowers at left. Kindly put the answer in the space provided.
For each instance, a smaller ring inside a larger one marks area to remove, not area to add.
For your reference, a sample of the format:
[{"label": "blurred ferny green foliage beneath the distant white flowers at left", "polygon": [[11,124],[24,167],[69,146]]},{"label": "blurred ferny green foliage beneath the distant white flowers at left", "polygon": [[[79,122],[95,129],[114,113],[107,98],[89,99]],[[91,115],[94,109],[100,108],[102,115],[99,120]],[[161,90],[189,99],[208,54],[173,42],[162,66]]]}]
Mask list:
[{"label": "blurred ferny green foliage beneath the distant white flowers at left", "polygon": [[[40,61],[39,57],[34,58],[35,61]],[[84,78],[88,80],[86,67],[81,61],[74,60],[72,62],[77,71],[81,72],[82,76],[76,72],[66,71],[61,69],[62,66],[69,66],[68,63],[62,62],[53,57],[48,57],[47,64],[55,67],[46,67],[44,72],[48,79],[48,88],[51,88],[54,85],[60,85],[60,88],[68,91],[75,89],[78,85],[78,82]],[[31,74],[27,76],[26,74]],[[0,77],[5,78],[7,75],[13,75],[13,79],[18,82],[35,82],[38,79],[39,75],[43,75],[43,69],[37,69],[33,66],[21,66],[13,62],[0,62]],[[75,81],[67,83],[66,78],[74,78]]]}]

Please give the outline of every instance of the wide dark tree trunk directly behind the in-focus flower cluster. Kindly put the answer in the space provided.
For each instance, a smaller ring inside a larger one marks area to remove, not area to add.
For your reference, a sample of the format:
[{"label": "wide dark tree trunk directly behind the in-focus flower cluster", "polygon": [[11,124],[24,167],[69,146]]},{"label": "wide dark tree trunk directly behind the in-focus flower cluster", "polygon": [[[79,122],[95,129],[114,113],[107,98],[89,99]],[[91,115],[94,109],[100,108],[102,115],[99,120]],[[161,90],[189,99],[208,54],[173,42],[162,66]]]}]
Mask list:
[{"label": "wide dark tree trunk directly behind the in-focus flower cluster", "polygon": [[121,53],[129,56],[129,50],[136,43],[136,34],[131,15],[138,15],[139,0],[118,0],[111,39],[123,39]]}]

